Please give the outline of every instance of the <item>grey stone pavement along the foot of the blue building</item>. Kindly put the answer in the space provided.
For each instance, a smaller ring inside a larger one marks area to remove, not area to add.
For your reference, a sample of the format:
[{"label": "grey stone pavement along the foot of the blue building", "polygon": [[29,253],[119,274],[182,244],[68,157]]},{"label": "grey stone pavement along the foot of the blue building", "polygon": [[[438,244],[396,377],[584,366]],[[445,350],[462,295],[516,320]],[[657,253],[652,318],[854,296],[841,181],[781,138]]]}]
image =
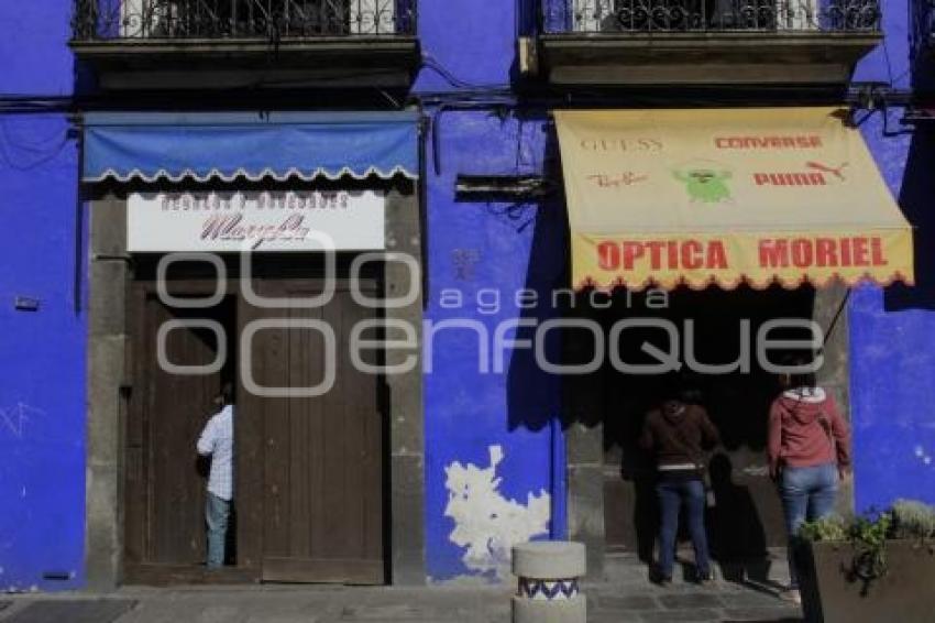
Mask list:
[{"label": "grey stone pavement along the foot of the blue building", "polygon": [[[588,622],[653,623],[695,621],[798,621],[799,610],[776,597],[783,580],[779,562],[761,581],[721,580],[697,587],[676,579],[667,588],[650,584],[646,568],[626,558],[608,560],[602,581],[585,582]],[[727,571],[732,576],[730,571]],[[117,623],[507,623],[512,587],[125,587],[108,599],[135,605]],[[0,623],[40,600],[96,599],[99,595],[11,595]],[[4,598],[8,599],[8,598]],[[61,621],[58,623],[69,623]],[[111,623],[101,621],[99,623]]]}]

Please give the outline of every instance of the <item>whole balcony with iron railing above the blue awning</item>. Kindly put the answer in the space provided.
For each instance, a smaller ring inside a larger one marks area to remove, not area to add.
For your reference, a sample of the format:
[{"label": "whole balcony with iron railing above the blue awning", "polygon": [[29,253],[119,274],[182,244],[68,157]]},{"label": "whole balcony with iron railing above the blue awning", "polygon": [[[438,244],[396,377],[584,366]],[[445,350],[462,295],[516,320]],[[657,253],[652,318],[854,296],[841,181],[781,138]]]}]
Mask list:
[{"label": "whole balcony with iron railing above the blue awning", "polygon": [[405,88],[417,0],[75,0],[105,90]]}]

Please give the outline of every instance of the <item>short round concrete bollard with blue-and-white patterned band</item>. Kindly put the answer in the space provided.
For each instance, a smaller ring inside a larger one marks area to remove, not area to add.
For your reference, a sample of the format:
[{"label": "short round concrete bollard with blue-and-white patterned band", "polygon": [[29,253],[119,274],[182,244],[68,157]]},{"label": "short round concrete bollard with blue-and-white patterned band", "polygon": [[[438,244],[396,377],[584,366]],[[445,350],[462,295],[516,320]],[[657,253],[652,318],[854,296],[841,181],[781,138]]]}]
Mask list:
[{"label": "short round concrete bollard with blue-and-white patterned band", "polygon": [[587,600],[578,582],[587,569],[583,543],[541,540],[513,548],[513,623],[586,623]]}]

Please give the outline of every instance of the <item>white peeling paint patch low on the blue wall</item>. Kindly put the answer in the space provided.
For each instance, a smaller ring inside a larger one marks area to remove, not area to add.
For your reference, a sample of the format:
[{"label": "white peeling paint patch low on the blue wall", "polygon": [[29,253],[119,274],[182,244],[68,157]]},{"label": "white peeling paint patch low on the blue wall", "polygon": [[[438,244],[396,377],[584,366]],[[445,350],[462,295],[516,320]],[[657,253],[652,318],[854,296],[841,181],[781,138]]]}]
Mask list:
[{"label": "white peeling paint patch low on the blue wall", "polygon": [[488,468],[459,461],[444,468],[444,516],[454,520],[450,540],[466,548],[461,557],[464,566],[473,575],[505,580],[509,577],[513,546],[548,535],[551,501],[544,489],[538,495],[529,492],[526,505],[504,498],[499,492],[503,479],[496,474],[504,458],[503,447],[491,446],[490,453]]}]

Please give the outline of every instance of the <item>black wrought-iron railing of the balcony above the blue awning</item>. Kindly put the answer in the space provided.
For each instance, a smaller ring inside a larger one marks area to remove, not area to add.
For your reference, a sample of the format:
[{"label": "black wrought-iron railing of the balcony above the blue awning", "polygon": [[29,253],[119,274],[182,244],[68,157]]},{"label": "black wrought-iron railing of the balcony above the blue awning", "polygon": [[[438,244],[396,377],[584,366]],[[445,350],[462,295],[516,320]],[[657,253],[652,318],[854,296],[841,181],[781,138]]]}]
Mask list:
[{"label": "black wrought-iron railing of the balcony above the blue awning", "polygon": [[75,0],[75,41],[411,35],[417,0]]}]

